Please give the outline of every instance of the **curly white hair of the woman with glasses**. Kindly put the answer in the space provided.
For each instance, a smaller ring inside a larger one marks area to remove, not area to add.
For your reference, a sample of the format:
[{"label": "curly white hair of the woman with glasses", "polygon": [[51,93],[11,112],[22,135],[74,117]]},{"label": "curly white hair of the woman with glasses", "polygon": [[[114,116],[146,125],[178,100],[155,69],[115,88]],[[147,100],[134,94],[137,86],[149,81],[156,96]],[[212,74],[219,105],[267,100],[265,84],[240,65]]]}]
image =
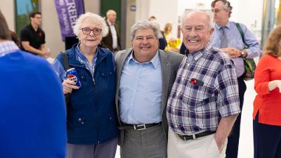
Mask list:
[{"label": "curly white hair of the woman with glasses", "polygon": [[105,19],[103,19],[100,15],[96,15],[94,13],[84,13],[82,15],[79,16],[79,18],[76,21],[76,24],[73,27],[73,33],[78,37],[79,35],[79,31],[80,31],[80,27],[82,22],[84,22],[84,20],[86,18],[91,18],[93,19],[94,22],[96,22],[96,24],[100,25],[101,27],[101,35],[102,37],[105,37],[108,33],[108,27],[106,25]]}]

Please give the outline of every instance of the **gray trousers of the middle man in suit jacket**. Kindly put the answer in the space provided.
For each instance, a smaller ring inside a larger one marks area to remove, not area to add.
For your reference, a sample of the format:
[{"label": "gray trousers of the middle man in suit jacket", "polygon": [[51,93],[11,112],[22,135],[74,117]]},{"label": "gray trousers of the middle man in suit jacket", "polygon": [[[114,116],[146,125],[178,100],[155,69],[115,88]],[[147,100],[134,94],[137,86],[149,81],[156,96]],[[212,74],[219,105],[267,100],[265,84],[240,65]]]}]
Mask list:
[{"label": "gray trousers of the middle man in suit jacket", "polygon": [[161,125],[136,131],[124,130],[121,158],[166,158],[167,142]]}]

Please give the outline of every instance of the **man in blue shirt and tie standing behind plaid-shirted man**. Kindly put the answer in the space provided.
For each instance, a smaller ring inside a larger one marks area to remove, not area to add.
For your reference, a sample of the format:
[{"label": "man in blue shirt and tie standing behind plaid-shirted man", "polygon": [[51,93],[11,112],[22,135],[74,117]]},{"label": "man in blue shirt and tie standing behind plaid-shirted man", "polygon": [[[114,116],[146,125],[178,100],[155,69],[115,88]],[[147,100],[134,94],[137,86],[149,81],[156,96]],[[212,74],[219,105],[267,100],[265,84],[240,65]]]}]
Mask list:
[{"label": "man in blue shirt and tie standing behind plaid-shirted man", "polygon": [[[242,74],[244,73],[243,58],[254,58],[261,55],[261,46],[247,27],[239,23],[244,33],[244,43],[236,22],[230,21],[232,6],[226,0],[214,0],[211,3],[211,11],[214,13],[214,33],[211,35],[210,43],[221,51],[228,53],[230,58],[234,60],[237,73],[237,81],[239,88],[240,109],[242,110],[244,102],[244,93],[247,86],[244,82]],[[233,126],[233,131],[228,137],[228,146],[226,148],[226,158],[237,158],[238,145],[240,137],[240,121],[241,114],[237,117]]]}]

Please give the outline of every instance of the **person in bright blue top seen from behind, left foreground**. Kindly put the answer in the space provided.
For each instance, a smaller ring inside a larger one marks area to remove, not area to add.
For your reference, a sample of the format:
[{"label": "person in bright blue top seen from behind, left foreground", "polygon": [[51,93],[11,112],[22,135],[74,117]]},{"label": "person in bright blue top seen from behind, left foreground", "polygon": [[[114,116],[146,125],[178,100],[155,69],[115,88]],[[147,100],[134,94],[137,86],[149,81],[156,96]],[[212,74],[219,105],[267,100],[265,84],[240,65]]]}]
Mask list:
[{"label": "person in bright blue top seen from behind, left foreground", "polygon": [[0,11],[0,157],[64,158],[65,99],[43,58],[20,51]]}]

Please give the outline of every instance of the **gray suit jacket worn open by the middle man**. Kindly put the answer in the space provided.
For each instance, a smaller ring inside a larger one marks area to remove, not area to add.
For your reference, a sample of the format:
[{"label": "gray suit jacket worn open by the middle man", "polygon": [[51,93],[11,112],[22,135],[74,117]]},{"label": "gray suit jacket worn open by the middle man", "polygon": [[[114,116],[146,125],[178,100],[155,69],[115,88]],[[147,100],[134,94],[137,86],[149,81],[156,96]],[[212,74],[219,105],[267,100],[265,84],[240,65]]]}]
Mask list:
[{"label": "gray suit jacket worn open by the middle man", "polygon": [[[119,126],[121,125],[121,120],[119,118],[119,84],[120,78],[122,75],[122,70],[124,67],[124,62],[131,55],[132,49],[127,49],[124,51],[118,51],[115,54],[115,63],[116,63],[116,95],[115,95],[115,103],[117,116],[119,120]],[[167,51],[159,50],[159,57],[161,62],[161,70],[162,70],[162,127],[166,136],[166,140],[168,140],[168,123],[166,119],[166,103],[169,97],[169,93],[171,92],[171,86],[173,86],[174,81],[176,79],[176,73],[178,72],[178,67],[183,60],[184,55],[179,53],[171,53]],[[119,145],[123,144],[124,140],[124,131],[120,130],[119,136]]]}]

